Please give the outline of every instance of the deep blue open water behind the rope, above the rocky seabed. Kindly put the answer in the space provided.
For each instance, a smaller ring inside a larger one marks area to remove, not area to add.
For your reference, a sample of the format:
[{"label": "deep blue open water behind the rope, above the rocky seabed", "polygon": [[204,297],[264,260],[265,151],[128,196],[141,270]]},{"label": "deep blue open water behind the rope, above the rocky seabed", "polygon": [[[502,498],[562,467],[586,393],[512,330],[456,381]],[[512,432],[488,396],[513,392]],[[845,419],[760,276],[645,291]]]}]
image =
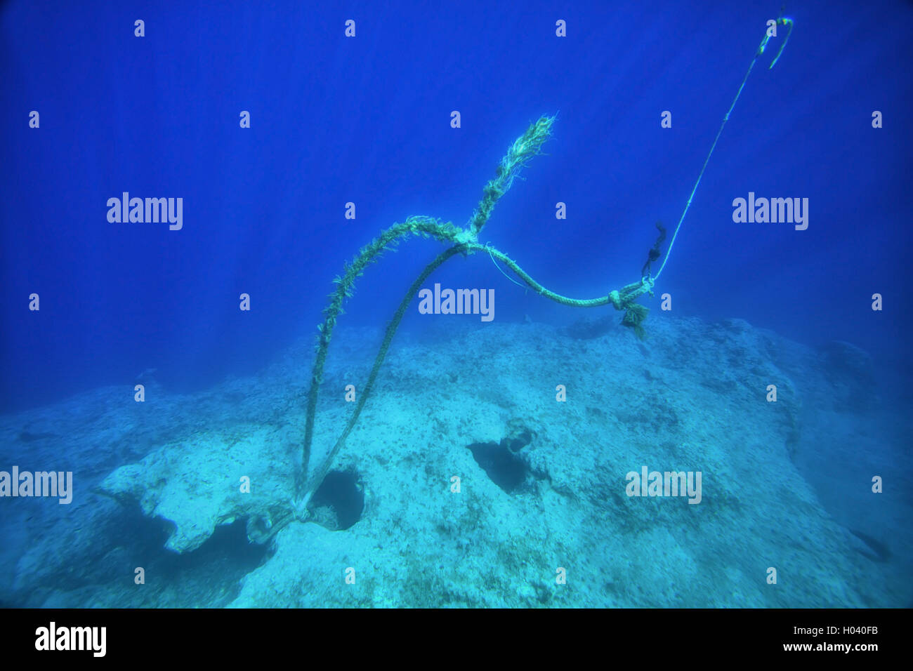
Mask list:
[{"label": "deep blue open water behind the rope, above the rocky seabed", "polygon": [[[635,281],[657,220],[671,236],[780,10],[436,5],[0,6],[0,413],[131,389],[148,369],[169,393],[256,374],[312,337],[331,279],[383,228],[409,215],[466,225],[509,144],[541,115],[557,113],[547,155],[501,199],[482,241],[564,295]],[[790,42],[769,69],[781,26],[754,68],[656,289],[677,317],[853,343],[882,376],[885,411],[907,414],[913,5],[795,2],[786,15]],[[145,37],[133,35],[138,18]],[[106,203],[122,192],[183,197],[183,229],[109,223]],[[808,229],[733,223],[732,200],[749,192],[808,198]],[[383,326],[441,248],[404,241],[362,278],[341,323]],[[498,322],[582,317],[482,255],[433,281],[496,288]],[[238,309],[242,293],[250,311]],[[663,316],[643,302],[649,328]],[[411,309],[403,332],[424,319]]]}]

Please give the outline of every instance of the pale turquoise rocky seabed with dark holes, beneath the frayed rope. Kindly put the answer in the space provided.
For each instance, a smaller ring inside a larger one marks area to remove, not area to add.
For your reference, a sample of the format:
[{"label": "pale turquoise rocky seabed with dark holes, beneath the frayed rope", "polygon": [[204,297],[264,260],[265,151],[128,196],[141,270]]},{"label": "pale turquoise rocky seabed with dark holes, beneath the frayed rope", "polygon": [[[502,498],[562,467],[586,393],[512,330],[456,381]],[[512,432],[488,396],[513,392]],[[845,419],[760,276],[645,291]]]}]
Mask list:
[{"label": "pale turquoise rocky seabed with dark holes, beneath the frayed rope", "polygon": [[[289,509],[310,339],[205,393],[168,393],[147,375],[142,404],[125,381],[2,415],[0,469],[72,470],[75,495],[68,506],[0,499],[0,602],[913,603],[910,422],[865,352],[811,349],[741,320],[651,317],[640,342],[616,321],[453,320],[398,334],[335,463],[339,498],[266,544],[248,542],[246,524],[267,528]],[[341,432],[345,385],[360,391],[380,339],[334,336],[315,456]],[[479,465],[488,451],[485,465],[508,473]],[[625,474],[643,466],[700,471],[701,502],[627,497]]]}]

